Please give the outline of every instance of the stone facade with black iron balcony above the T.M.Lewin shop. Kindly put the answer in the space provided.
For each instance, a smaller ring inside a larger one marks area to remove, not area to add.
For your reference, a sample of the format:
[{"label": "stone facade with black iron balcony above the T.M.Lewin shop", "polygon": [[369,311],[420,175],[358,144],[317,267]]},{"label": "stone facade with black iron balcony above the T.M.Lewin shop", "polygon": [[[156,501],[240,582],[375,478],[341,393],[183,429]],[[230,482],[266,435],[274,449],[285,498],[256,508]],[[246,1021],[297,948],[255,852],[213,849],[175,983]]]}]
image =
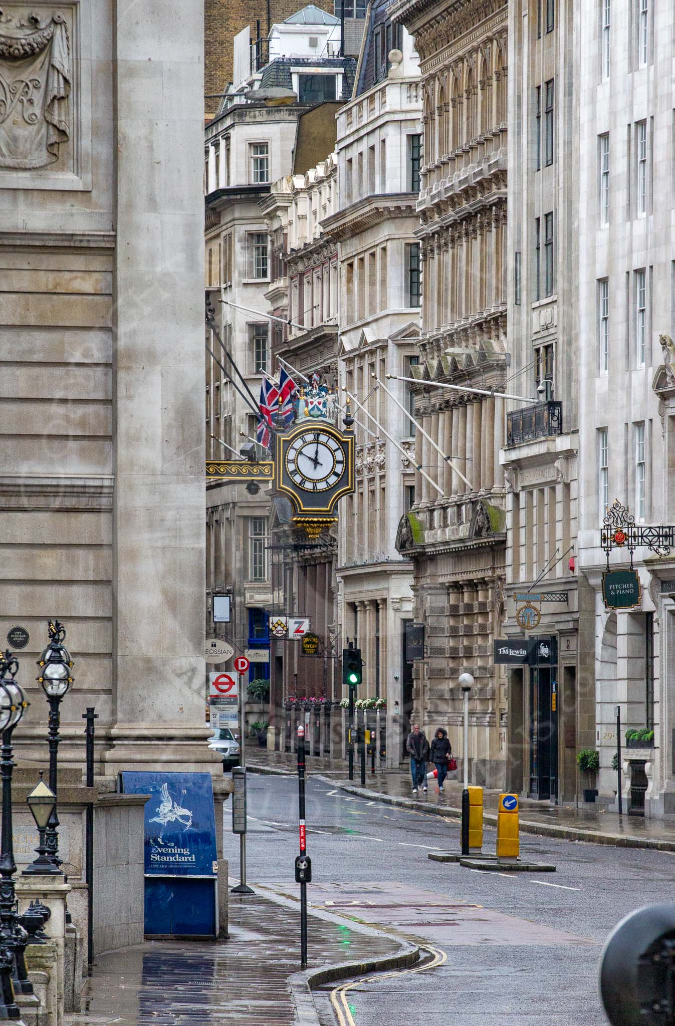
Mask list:
[{"label": "stone facade with black iron balcony above the T.M.Lewin shop", "polygon": [[546,654],[532,665],[508,668],[509,787],[566,801],[580,793],[577,750],[595,741],[590,592],[575,570],[583,364],[575,172],[581,97],[578,76],[568,74],[577,60],[573,4],[511,5],[509,53],[509,377],[524,398],[508,400],[502,453],[508,488],[505,636],[534,637]]}]

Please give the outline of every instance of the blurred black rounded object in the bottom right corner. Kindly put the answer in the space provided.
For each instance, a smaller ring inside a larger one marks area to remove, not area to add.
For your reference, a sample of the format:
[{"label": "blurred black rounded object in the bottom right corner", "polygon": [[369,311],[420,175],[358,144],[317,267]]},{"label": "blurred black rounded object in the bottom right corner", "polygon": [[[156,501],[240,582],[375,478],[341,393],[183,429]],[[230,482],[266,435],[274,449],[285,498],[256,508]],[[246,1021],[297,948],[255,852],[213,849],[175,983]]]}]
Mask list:
[{"label": "blurred black rounded object in the bottom right corner", "polygon": [[631,912],[600,955],[600,997],[612,1026],[666,1026],[674,1021],[672,988],[675,904]]}]

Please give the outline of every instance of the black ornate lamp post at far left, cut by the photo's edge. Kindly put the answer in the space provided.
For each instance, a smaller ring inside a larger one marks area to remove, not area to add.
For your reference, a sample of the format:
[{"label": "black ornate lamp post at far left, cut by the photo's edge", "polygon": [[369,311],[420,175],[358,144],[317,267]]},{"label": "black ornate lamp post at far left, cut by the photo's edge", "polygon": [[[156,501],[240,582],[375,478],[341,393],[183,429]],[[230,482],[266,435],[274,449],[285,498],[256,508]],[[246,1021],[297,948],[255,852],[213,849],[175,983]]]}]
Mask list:
[{"label": "black ornate lamp post at far left, cut by the photo's edge", "polygon": [[0,656],[0,776],[2,777],[2,832],[0,839],[0,1019],[18,1019],[14,992],[33,993],[24,950],[28,935],[16,915],[13,875],[16,872],[11,823],[11,776],[14,768],[11,736],[28,706],[15,675],[18,661],[10,653]]}]

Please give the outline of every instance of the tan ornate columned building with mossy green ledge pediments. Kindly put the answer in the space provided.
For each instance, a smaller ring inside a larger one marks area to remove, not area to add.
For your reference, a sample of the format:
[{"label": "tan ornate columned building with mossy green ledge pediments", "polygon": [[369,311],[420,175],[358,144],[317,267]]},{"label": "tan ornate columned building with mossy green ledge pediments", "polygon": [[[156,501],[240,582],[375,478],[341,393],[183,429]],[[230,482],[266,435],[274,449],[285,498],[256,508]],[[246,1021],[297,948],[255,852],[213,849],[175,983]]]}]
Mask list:
[{"label": "tan ornate columned building with mossy green ledge pediments", "polygon": [[415,474],[397,540],[412,560],[414,618],[426,626],[414,716],[429,732],[446,727],[460,751],[458,677],[472,673],[473,781],[499,787],[507,694],[493,640],[504,620],[505,406],[490,391],[504,390],[508,364],[507,4],[398,0],[390,13],[414,36],[423,76],[422,333],[410,377],[415,416],[442,450],[416,432],[414,463],[432,480]]}]

